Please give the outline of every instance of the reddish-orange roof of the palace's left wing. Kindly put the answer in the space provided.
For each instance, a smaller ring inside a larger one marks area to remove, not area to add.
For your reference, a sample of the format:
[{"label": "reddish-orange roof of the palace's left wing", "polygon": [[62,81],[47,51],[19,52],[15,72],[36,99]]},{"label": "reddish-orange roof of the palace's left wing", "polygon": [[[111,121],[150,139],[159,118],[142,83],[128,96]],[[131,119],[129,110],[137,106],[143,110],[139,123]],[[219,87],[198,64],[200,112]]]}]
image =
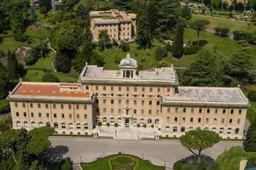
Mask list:
[{"label": "reddish-orange roof of the palace's left wing", "polygon": [[[89,93],[74,90],[60,90],[60,83],[44,84],[44,83],[22,83],[17,88],[14,95],[23,96],[55,96],[55,97],[89,97]],[[78,84],[76,84],[78,85]]]}]

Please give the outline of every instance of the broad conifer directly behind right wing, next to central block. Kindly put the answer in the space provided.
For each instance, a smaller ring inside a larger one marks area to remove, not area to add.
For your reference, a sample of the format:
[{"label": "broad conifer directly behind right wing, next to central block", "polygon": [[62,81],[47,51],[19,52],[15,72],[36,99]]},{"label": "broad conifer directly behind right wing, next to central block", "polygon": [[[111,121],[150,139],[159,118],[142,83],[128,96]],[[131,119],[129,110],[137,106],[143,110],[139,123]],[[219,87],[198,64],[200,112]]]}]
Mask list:
[{"label": "broad conifer directly behind right wing, next to central block", "polygon": [[221,86],[221,68],[217,59],[208,51],[197,54],[195,62],[183,72],[181,82],[187,86]]}]

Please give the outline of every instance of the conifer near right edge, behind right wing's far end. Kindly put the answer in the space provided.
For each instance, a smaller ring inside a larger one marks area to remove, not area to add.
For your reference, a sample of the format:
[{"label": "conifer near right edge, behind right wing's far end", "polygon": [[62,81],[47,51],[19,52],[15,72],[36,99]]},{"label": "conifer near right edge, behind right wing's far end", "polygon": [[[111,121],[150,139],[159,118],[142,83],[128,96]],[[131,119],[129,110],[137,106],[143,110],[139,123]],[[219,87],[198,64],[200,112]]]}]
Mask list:
[{"label": "conifer near right edge, behind right wing's far end", "polygon": [[236,54],[225,65],[225,73],[235,78],[237,83],[247,84],[253,78],[252,48],[241,42]]}]

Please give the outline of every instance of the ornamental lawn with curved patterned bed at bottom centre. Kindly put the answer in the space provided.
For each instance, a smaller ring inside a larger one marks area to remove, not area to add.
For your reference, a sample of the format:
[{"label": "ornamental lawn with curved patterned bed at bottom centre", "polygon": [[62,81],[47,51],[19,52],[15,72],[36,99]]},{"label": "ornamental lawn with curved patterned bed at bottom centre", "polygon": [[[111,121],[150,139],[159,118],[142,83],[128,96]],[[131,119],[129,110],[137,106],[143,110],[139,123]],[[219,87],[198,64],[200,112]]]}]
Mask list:
[{"label": "ornamental lawn with curved patterned bed at bottom centre", "polygon": [[[129,162],[130,161],[130,162]],[[149,161],[143,161],[139,159],[137,156],[126,156],[126,155],[115,155],[108,156],[105,158],[99,158],[98,160],[91,163],[82,163],[81,167],[84,170],[117,170],[118,165],[131,165],[131,166],[123,166],[124,170],[164,170],[164,167],[156,167],[150,164]],[[135,169],[133,168],[135,165]],[[110,168],[110,165],[113,165]],[[116,167],[116,168],[115,168]]]}]

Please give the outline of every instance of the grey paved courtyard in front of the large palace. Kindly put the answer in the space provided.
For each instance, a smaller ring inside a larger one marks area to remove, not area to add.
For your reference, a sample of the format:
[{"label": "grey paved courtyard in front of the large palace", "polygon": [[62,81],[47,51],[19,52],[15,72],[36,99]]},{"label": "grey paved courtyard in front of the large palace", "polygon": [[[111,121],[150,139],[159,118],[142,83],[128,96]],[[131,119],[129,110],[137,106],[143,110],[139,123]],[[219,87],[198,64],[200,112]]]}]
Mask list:
[{"label": "grey paved courtyard in front of the large palace", "polygon": [[[151,161],[155,165],[172,167],[178,159],[191,156],[178,140],[125,140],[125,139],[94,139],[85,137],[50,137],[55,157],[69,156],[73,162],[95,161],[101,156],[117,154],[119,151]],[[241,145],[236,141],[221,141],[203,154],[216,158],[231,146]],[[57,149],[57,151],[55,150]]]}]

